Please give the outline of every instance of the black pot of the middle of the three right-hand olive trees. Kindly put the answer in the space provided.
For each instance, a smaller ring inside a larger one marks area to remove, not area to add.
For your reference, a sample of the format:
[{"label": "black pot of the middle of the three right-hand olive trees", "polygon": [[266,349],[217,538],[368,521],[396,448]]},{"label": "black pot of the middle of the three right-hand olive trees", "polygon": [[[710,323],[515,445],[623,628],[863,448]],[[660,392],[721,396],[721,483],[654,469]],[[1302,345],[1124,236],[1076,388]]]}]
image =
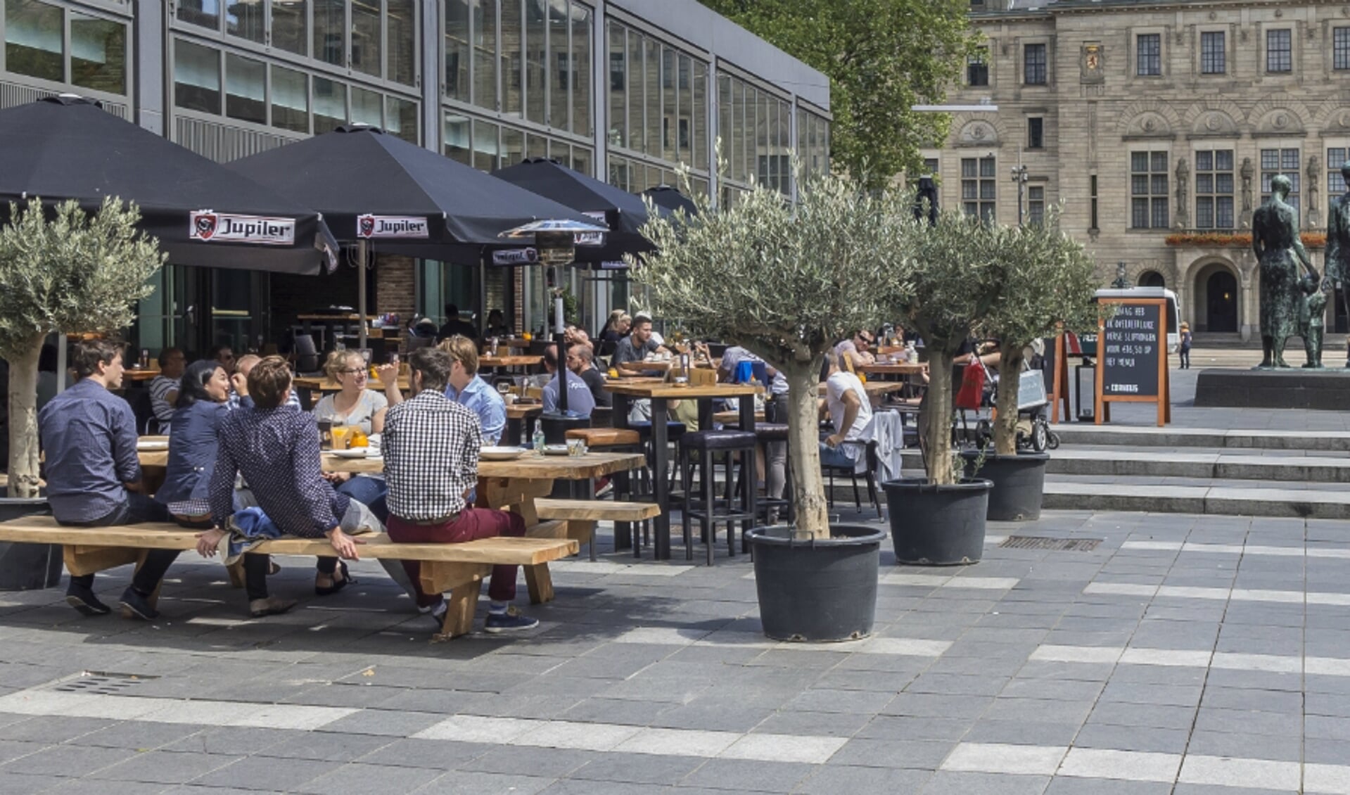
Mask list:
[{"label": "black pot of the middle of the three right-hand olive trees", "polygon": [[988,481],[936,486],[927,478],[882,483],[890,505],[895,561],[918,566],[979,563],[984,555]]}]

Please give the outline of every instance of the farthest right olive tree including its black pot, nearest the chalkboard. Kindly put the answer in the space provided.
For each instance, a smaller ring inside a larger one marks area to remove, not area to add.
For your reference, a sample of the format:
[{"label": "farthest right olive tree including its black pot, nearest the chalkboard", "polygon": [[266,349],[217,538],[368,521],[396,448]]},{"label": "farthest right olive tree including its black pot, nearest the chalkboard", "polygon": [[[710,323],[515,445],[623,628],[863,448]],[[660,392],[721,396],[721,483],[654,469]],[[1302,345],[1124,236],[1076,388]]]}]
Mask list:
[{"label": "farthest right olive tree including its black pot, nearest the chalkboard", "polygon": [[[1041,224],[1010,229],[1004,236],[1003,289],[981,321],[984,332],[999,340],[998,417],[994,449],[964,454],[967,471],[981,462],[979,476],[994,482],[988,518],[1025,521],[1041,516],[1045,489],[1045,452],[1018,452],[1018,394],[1031,346],[1056,333],[1056,328],[1095,328],[1100,286],[1096,265],[1083,244],[1058,228],[1058,212]],[[1062,352],[1060,352],[1062,355]],[[1030,429],[1023,431],[1029,433]]]}]

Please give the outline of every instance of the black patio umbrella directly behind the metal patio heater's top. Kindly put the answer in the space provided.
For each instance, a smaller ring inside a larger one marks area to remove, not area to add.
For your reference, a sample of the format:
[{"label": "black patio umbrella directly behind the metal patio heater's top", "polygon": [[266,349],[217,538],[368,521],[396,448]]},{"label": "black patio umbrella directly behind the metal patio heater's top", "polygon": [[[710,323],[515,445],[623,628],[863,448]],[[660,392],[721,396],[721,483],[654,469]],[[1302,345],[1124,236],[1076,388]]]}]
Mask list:
[{"label": "black patio umbrella directly behind the metal patio heater's top", "polygon": [[578,262],[613,262],[621,261],[624,254],[652,250],[651,242],[639,231],[647,223],[647,207],[641,197],[622,188],[587,177],[549,158],[526,158],[514,166],[493,171],[493,177],[552,198],[591,219],[602,219],[609,227],[605,244],[578,248]]}]

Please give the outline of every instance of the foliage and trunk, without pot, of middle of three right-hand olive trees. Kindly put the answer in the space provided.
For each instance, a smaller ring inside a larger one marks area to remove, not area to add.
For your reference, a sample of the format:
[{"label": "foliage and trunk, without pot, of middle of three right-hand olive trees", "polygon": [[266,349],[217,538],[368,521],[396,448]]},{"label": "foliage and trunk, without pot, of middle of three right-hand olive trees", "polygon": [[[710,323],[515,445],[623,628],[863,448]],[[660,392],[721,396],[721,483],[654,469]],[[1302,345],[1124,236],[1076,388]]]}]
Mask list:
[{"label": "foliage and trunk, without pot, of middle of three right-hand olive trees", "polygon": [[1007,227],[956,212],[937,216],[934,224],[906,221],[910,256],[902,278],[907,289],[891,293],[896,302],[886,308],[886,316],[922,339],[927,352],[929,387],[919,428],[934,485],[956,481],[952,363],[999,296],[1008,236]]}]

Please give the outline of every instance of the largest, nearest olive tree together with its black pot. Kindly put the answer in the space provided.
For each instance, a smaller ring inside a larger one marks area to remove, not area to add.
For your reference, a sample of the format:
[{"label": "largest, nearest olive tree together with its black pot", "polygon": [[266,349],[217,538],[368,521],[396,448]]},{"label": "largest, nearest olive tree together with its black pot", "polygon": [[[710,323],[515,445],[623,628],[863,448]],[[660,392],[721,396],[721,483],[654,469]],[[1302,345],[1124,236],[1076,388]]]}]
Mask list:
[{"label": "largest, nearest olive tree together with its black pot", "polygon": [[865,636],[884,534],[830,525],[817,393],[826,351],[875,325],[903,292],[909,200],[842,175],[805,181],[795,207],[764,186],[717,211],[688,193],[699,212],[652,213],[643,234],[656,252],[634,262],[633,277],[657,313],[744,346],[787,379],[795,525],[749,533],[764,632],[810,641]]}]

